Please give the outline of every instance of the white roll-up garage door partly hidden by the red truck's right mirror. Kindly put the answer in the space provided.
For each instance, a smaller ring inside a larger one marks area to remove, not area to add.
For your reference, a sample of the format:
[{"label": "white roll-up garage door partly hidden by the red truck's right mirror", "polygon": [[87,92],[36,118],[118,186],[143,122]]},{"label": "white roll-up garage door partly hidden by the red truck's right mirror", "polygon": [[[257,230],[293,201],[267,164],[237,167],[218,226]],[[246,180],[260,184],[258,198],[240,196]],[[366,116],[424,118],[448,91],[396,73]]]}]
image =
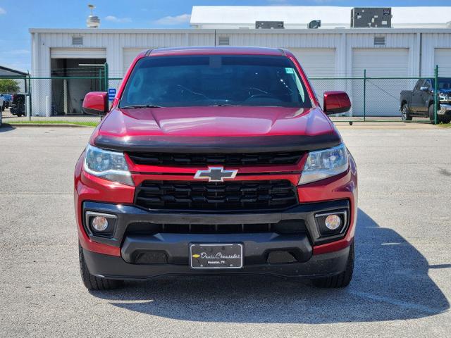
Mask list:
[{"label": "white roll-up garage door partly hidden by the red truck's right mirror", "polygon": [[313,77],[313,85],[319,100],[322,101],[323,93],[327,90],[339,89],[337,81],[314,80],[314,77],[335,76],[335,49],[333,48],[289,48],[295,54],[309,78]]}]

